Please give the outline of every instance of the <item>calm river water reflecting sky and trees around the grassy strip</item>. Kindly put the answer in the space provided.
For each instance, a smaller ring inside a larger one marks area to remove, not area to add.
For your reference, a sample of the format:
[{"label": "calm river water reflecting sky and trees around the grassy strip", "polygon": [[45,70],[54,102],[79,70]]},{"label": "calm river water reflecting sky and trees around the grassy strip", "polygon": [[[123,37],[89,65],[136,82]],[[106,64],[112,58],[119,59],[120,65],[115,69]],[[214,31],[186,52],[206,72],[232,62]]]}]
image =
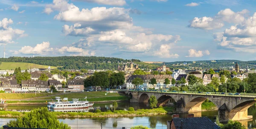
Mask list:
[{"label": "calm river water reflecting sky and trees around the grassy strip", "polygon": [[[8,106],[5,107],[8,110],[31,110],[43,106]],[[118,109],[128,109],[129,107],[134,107],[137,109],[147,108],[145,104],[130,104],[129,102],[118,103]],[[111,104],[94,104],[94,109],[101,109],[105,111],[107,109],[113,109]],[[187,113],[180,114],[181,118],[186,118]],[[196,112],[194,113],[195,117],[204,117],[207,116],[212,121],[215,121],[218,111],[205,111],[205,112]],[[253,115],[253,120],[250,121],[240,121],[244,126],[255,127],[256,126],[256,107],[250,107],[248,109],[248,115]],[[5,125],[9,122],[10,118],[0,118],[0,126]],[[59,119],[64,123],[67,123],[71,126],[72,129],[121,129],[125,127],[130,129],[135,125],[144,125],[155,129],[166,129],[166,121],[171,121],[172,115],[158,115],[158,116],[146,116],[146,117],[130,117],[130,118],[74,118],[74,119]]]}]

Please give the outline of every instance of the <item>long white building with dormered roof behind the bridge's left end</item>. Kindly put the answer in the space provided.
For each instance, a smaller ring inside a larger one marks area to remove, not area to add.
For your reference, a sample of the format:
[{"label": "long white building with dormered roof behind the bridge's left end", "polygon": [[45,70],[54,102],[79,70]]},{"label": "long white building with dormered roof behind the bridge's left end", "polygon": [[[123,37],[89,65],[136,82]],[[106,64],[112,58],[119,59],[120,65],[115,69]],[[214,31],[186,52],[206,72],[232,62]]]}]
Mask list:
[{"label": "long white building with dormered roof behind the bridge's left end", "polygon": [[[135,85],[132,84],[133,79],[135,78],[141,78],[143,80],[143,84],[135,87]],[[149,84],[151,79],[156,79],[157,80],[157,84],[152,85]],[[169,79],[170,83],[172,82],[172,76],[171,75],[131,75],[131,77],[129,77],[126,81],[126,89],[134,89],[134,88],[155,88],[155,89],[159,89],[159,88],[169,88],[172,86],[172,84],[164,84],[164,80],[165,79]]]}]

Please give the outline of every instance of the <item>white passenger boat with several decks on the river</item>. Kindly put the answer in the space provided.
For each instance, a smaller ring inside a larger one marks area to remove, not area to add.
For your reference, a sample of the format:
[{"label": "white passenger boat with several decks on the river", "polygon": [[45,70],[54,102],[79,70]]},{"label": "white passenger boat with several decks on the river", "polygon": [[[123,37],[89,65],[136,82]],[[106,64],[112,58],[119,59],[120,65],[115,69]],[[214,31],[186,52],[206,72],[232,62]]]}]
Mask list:
[{"label": "white passenger boat with several decks on the river", "polygon": [[89,106],[93,106],[93,104],[89,104],[88,101],[79,101],[77,98],[73,98],[73,101],[67,102],[59,102],[52,104],[52,109],[83,109],[88,108]]}]

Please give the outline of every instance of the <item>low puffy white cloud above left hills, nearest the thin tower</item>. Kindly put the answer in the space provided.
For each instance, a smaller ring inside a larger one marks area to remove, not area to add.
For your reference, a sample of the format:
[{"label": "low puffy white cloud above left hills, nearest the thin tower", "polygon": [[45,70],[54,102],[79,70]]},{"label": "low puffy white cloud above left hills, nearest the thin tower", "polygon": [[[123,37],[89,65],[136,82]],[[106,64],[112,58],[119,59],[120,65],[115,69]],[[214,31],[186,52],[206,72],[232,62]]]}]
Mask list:
[{"label": "low puffy white cloud above left hills, nearest the thin tower", "polygon": [[11,51],[14,52],[14,54],[40,54],[40,55],[46,55],[49,52],[52,52],[53,48],[50,48],[49,42],[42,42],[41,44],[37,44],[35,47],[31,46],[24,46],[20,50],[17,51]]}]

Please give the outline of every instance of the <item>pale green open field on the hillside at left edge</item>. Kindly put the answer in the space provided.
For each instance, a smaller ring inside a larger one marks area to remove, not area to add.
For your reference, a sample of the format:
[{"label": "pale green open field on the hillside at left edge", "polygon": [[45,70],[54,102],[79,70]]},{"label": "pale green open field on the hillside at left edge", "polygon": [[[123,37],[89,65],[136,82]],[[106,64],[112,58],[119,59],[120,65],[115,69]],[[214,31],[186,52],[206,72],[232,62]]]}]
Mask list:
[{"label": "pale green open field on the hillside at left edge", "polygon": [[[32,64],[32,63],[22,63],[22,62],[2,62],[0,64],[1,70],[15,70],[16,67],[20,67],[21,70],[26,70],[31,68],[48,68],[47,65]],[[51,69],[57,67],[51,66]]]}]

